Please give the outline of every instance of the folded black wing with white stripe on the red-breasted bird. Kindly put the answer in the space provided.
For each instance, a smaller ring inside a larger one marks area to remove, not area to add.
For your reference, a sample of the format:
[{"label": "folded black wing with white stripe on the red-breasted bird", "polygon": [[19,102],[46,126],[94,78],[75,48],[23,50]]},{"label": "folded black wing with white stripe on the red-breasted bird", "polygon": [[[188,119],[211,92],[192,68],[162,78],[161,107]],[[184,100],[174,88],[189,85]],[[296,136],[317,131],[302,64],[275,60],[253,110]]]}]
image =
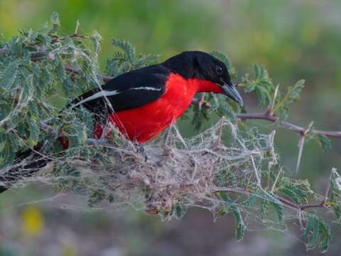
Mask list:
[{"label": "folded black wing with white stripe on the red-breasted bird", "polygon": [[117,76],[103,85],[102,90],[96,88],[85,92],[70,102],[67,107],[82,105],[96,114],[112,112],[112,109],[118,112],[140,107],[163,95],[168,75],[168,69],[162,65],[140,68]]}]

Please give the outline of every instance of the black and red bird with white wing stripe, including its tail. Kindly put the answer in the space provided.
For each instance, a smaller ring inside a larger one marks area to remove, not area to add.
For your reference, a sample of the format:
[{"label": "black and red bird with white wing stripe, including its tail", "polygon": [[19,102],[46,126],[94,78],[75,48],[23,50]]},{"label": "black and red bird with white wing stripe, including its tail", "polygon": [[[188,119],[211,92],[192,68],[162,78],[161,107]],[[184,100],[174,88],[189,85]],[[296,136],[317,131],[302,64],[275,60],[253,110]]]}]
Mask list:
[{"label": "black and red bird with white wing stripe, including its tail", "polygon": [[[96,121],[94,138],[108,136],[104,132],[110,124],[126,139],[145,144],[176,122],[197,92],[220,93],[243,105],[229,70],[221,60],[202,51],[185,51],[163,63],[119,75],[71,100],[65,109],[85,107],[91,112]],[[60,137],[59,140],[67,149],[67,139]],[[32,176],[50,161],[41,159],[38,147],[17,154],[17,161],[28,156],[37,161],[10,169],[0,176],[4,183],[0,193],[22,176]]]}]

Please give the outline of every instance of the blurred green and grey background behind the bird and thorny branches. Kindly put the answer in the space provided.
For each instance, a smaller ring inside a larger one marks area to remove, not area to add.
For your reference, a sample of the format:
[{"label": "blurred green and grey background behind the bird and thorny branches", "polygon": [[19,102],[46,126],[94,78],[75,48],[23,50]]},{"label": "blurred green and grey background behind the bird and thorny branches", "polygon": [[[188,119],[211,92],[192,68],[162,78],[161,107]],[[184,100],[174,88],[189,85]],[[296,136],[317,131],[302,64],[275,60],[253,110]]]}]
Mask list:
[{"label": "blurred green and grey background behind the bird and thorny branches", "polygon": [[[79,20],[80,33],[102,35],[102,70],[114,51],[112,38],[126,38],[138,51],[160,53],[162,60],[183,50],[220,50],[231,58],[239,80],[251,63],[265,64],[282,90],[305,79],[290,120],[341,130],[340,1],[0,0],[0,33],[9,39],[19,28],[40,28],[53,11],[65,34],[73,33]],[[245,105],[259,111],[251,97]],[[271,130],[269,123],[254,124]],[[193,132],[186,122],[180,128],[187,136]],[[296,165],[297,142],[296,134],[278,131],[278,152],[288,170]],[[308,142],[298,176],[323,191],[333,166],[341,167],[340,140],[330,151]],[[23,205],[47,197],[48,192],[29,188],[0,196],[0,255],[305,255],[303,243],[269,230],[249,232],[237,243],[232,217],[213,223],[204,210],[165,223],[133,210],[87,213],[39,201]],[[336,233],[328,255],[340,255],[338,238]]]}]

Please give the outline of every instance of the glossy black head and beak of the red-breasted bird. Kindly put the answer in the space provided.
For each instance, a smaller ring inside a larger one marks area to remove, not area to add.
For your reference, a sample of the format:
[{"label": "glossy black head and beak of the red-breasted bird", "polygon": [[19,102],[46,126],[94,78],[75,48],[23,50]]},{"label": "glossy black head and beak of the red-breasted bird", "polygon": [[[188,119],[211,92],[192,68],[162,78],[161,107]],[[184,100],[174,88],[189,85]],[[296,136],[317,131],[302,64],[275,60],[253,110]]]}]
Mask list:
[{"label": "glossy black head and beak of the red-breasted bird", "polygon": [[186,79],[215,82],[222,87],[225,95],[243,105],[242,97],[232,83],[226,65],[212,55],[201,51],[185,51],[169,58],[163,65]]}]

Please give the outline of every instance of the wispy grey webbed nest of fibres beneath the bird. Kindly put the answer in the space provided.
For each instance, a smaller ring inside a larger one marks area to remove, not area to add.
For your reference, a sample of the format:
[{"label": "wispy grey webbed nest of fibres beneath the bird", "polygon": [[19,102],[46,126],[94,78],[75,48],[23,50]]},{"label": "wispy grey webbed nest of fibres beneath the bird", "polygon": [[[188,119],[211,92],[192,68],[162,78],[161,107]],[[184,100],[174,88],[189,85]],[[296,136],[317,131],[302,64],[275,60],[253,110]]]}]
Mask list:
[{"label": "wispy grey webbed nest of fibres beneath the bird", "polygon": [[169,217],[175,206],[215,213],[222,203],[218,191],[246,193],[247,186],[261,183],[261,166],[276,164],[273,139],[274,133],[240,133],[224,118],[188,139],[172,126],[143,148],[126,140],[120,146],[105,145],[106,161],[55,158],[16,186],[40,181],[81,194],[92,205],[128,204]]}]

